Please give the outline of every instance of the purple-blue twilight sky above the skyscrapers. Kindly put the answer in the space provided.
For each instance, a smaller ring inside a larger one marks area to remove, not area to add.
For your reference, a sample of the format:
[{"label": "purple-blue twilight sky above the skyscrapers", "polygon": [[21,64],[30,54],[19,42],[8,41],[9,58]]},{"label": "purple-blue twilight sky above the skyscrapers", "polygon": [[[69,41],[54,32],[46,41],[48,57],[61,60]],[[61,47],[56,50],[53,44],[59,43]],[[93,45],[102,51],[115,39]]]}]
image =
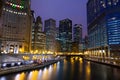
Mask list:
[{"label": "purple-blue twilight sky above the skyscrapers", "polygon": [[42,21],[53,18],[59,26],[59,20],[69,18],[74,24],[83,25],[83,36],[87,34],[87,0],[31,0],[31,8]]}]

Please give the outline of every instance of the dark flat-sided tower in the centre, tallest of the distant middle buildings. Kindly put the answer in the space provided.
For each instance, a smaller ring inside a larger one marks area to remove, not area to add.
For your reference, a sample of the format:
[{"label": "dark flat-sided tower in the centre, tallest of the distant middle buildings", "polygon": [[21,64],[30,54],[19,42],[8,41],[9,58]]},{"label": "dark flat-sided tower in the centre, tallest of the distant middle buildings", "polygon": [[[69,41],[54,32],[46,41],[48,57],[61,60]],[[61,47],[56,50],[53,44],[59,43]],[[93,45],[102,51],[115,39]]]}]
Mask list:
[{"label": "dark flat-sided tower in the centre, tallest of the distant middle buildings", "polygon": [[59,40],[61,52],[71,52],[72,47],[72,21],[70,19],[61,20],[59,23]]}]

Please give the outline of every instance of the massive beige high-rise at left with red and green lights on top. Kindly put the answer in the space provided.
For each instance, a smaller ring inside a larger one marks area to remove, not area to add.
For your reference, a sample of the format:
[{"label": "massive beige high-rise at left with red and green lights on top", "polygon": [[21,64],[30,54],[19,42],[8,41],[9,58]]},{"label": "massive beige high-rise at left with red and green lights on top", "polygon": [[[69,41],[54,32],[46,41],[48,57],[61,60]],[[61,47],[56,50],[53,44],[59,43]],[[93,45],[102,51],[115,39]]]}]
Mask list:
[{"label": "massive beige high-rise at left with red and green lights on top", "polygon": [[0,24],[3,53],[30,50],[30,19],[30,0],[3,0]]}]

